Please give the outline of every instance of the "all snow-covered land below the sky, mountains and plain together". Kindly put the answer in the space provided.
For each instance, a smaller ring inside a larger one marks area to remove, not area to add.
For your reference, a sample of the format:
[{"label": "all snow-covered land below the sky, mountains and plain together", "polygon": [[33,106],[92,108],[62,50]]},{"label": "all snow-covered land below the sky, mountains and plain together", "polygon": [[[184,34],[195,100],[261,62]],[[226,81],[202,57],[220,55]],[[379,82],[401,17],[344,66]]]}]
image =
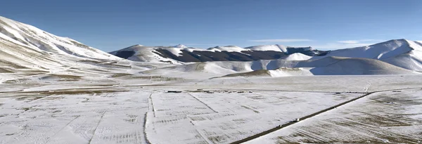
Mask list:
[{"label": "all snow-covered land below the sky, mountains and plain together", "polygon": [[422,143],[422,44],[106,53],[0,17],[0,143]]}]

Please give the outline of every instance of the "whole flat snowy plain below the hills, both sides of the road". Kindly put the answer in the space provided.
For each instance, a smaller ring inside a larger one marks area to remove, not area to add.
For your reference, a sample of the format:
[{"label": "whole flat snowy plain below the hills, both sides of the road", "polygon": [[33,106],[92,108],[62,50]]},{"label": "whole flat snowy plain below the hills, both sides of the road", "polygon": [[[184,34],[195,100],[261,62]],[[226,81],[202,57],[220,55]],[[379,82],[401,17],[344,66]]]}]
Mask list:
[{"label": "whole flat snowy plain below the hills, both sides of the road", "polygon": [[[418,75],[25,81],[0,88],[0,143],[421,143]],[[181,91],[181,93],[167,93]]]}]

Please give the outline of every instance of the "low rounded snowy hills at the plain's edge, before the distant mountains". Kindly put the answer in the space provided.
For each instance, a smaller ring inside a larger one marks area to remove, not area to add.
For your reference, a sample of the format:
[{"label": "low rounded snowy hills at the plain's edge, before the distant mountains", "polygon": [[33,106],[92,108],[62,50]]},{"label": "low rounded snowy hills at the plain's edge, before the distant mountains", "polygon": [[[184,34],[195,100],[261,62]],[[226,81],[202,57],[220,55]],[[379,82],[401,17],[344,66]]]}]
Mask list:
[{"label": "low rounded snowy hills at the plain's edge, before the distant mountains", "polygon": [[205,62],[163,67],[144,74],[170,77],[190,77],[201,73],[209,77],[286,77],[303,75],[364,75],[364,74],[417,74],[381,60],[370,58],[326,57],[316,60],[257,60],[250,62]]}]

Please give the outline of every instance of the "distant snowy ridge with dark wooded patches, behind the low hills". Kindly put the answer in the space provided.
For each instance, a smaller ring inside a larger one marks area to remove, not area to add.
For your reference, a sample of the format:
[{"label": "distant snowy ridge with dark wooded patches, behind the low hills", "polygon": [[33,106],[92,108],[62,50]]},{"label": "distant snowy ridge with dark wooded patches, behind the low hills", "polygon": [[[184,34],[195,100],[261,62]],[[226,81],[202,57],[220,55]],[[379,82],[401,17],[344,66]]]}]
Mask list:
[{"label": "distant snowy ridge with dark wooded patches, behind the low hills", "polygon": [[250,46],[246,48],[239,46],[215,46],[213,48],[202,49],[181,44],[177,46],[135,45],[111,52],[113,55],[129,60],[167,63],[274,60],[284,58],[286,55],[293,53],[314,56],[325,55],[328,52],[317,51],[311,47],[295,48],[281,45]]}]

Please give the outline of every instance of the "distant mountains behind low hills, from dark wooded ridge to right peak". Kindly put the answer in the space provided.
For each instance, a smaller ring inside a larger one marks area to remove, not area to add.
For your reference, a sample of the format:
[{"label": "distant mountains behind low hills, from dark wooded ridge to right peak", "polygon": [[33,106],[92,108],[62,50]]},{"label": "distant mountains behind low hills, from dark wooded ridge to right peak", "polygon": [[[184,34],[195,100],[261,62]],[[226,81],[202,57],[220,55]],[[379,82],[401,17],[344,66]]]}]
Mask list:
[{"label": "distant mountains behind low hills, from dark wooded ridge to right peak", "polygon": [[[422,44],[418,41],[395,39],[371,46],[346,48],[335,51],[317,51],[314,48],[292,48],[281,45],[216,46],[214,48],[178,48],[179,46],[132,46],[114,51],[112,54],[136,61],[160,61],[171,63],[212,62],[212,61],[255,61],[255,60],[319,60],[327,57],[369,58],[402,67],[407,70],[422,71]],[[284,62],[284,61],[283,61]],[[328,63],[328,62],[326,62]],[[306,67],[318,67],[326,63],[315,63]],[[292,65],[279,65],[293,67]],[[295,65],[294,67],[298,67]],[[303,66],[299,66],[303,67]],[[274,67],[277,68],[277,67]]]}]

